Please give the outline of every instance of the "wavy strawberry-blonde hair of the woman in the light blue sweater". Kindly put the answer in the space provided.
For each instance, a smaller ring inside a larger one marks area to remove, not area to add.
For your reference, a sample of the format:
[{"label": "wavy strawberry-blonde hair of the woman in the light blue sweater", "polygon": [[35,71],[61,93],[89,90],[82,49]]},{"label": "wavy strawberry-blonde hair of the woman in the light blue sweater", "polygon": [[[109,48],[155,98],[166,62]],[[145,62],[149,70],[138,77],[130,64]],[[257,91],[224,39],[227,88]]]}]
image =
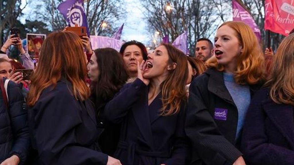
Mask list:
[{"label": "wavy strawberry-blonde hair of the woman in the light blue sweater", "polygon": [[[243,50],[237,60],[237,69],[234,72],[235,82],[249,85],[262,82],[265,78],[264,56],[253,31],[243,22],[228,21],[220,27],[224,25],[235,30]],[[206,66],[216,68],[219,71],[224,70],[224,66],[218,64],[215,56],[206,61]]]}]

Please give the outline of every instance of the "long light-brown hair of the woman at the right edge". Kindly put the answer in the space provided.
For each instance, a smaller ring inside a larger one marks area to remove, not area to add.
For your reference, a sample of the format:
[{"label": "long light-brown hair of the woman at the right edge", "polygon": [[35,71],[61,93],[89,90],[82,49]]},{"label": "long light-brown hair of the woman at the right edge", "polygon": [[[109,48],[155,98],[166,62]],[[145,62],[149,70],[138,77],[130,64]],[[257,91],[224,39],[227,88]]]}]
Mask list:
[{"label": "long light-brown hair of the woman at the right edge", "polygon": [[294,105],[294,34],[280,43],[266,84],[271,85],[270,98],[274,102]]}]

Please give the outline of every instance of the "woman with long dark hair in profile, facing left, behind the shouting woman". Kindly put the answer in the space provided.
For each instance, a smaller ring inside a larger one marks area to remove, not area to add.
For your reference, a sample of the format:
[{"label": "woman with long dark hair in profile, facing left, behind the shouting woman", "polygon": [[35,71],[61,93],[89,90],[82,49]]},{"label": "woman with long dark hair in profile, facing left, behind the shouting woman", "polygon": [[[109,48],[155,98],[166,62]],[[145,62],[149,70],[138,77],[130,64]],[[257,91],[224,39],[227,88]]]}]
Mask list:
[{"label": "woman with long dark hair in profile, facing left, behind the shouting woman", "polygon": [[118,144],[120,124],[106,121],[104,108],[126,83],[128,74],[121,55],[112,48],[96,49],[87,68],[91,79],[90,98],[95,103],[97,124],[101,129],[99,147],[112,156]]}]

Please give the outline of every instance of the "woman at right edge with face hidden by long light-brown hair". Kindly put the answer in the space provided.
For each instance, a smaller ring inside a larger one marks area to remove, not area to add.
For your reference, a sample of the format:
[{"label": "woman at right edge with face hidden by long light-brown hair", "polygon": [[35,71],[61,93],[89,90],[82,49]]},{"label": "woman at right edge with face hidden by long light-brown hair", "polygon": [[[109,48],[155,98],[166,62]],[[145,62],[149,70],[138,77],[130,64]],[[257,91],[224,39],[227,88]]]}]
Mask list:
[{"label": "woman at right edge with face hidden by long light-brown hair", "polygon": [[242,151],[248,164],[294,163],[294,34],[273,56],[271,75],[246,115]]}]

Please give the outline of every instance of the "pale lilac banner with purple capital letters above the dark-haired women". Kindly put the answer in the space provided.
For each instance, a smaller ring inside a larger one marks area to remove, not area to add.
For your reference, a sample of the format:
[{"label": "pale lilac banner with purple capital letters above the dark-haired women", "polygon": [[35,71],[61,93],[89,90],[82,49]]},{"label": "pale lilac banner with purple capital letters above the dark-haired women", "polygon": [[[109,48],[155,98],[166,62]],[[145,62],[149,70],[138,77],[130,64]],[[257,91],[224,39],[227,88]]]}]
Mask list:
[{"label": "pale lilac banner with purple capital letters above the dark-haired women", "polygon": [[113,48],[119,52],[124,43],[123,41],[104,36],[90,36],[90,40],[93,50],[97,48]]}]

